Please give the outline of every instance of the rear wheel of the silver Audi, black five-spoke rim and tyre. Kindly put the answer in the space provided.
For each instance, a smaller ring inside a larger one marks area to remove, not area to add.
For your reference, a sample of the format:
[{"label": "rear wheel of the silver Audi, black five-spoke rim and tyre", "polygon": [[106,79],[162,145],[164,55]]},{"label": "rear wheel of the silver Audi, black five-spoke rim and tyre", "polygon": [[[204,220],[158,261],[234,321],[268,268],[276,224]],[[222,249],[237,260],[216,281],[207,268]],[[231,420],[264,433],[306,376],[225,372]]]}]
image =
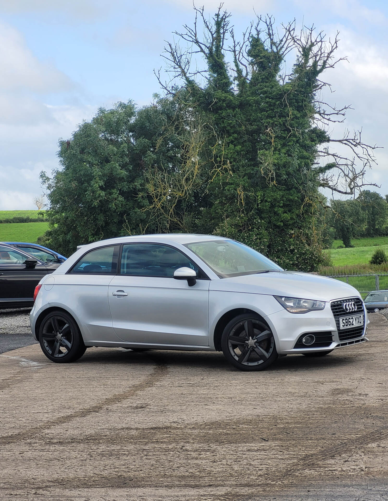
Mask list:
[{"label": "rear wheel of the silver Audi, black five-spoke rim and tyre", "polygon": [[60,310],[53,311],[43,318],[38,339],[42,352],[52,362],[74,362],[86,351],[74,319]]}]

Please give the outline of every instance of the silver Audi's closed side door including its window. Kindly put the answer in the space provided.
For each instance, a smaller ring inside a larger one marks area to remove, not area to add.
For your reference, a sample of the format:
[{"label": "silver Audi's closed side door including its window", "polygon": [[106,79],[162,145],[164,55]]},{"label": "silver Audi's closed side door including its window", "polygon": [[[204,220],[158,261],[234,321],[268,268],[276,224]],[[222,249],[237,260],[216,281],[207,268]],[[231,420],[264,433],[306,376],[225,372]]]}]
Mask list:
[{"label": "silver Audi's closed side door including its window", "polygon": [[[173,278],[184,266],[197,272],[192,287]],[[207,277],[180,250],[159,243],[125,244],[108,291],[113,329],[133,343],[208,346],[208,290]]]}]

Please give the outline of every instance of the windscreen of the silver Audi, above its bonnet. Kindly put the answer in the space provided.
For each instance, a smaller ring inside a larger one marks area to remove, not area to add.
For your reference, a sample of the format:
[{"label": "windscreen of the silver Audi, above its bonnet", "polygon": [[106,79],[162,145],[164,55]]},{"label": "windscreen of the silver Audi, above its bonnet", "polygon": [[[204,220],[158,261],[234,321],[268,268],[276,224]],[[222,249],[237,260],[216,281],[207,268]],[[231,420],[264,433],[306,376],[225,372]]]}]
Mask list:
[{"label": "windscreen of the silver Audi, above its bonnet", "polygon": [[283,271],[262,254],[234,240],[209,240],[186,243],[219,278],[252,275],[266,271]]}]

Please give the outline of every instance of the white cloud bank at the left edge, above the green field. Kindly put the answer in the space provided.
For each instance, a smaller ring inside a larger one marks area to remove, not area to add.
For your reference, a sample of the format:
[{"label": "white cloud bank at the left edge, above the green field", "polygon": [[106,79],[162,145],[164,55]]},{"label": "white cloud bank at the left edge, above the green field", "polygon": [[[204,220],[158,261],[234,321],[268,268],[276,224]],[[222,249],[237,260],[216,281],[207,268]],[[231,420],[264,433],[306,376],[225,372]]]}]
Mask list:
[{"label": "white cloud bank at the left edge, above the green field", "polygon": [[[39,61],[23,37],[0,23],[0,208],[34,208],[39,172],[57,167],[59,137],[67,138],[87,106],[49,106],[47,95],[74,100],[76,86],[53,65]],[[72,92],[69,95],[68,92]]]}]

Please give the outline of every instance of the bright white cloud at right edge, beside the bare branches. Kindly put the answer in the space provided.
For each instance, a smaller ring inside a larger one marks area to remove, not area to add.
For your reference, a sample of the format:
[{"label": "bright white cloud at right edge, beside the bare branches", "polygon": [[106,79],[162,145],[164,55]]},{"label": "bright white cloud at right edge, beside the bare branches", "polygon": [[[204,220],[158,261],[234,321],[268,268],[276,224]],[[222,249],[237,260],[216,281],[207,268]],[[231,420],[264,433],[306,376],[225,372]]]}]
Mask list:
[{"label": "bright white cloud at right edge, beside the bare branches", "polygon": [[[386,137],[386,116],[388,116],[388,57],[385,47],[376,46],[366,36],[331,26],[326,31],[331,36],[339,33],[340,43],[336,57],[346,56],[348,61],[341,61],[334,70],[329,70],[323,80],[332,85],[331,94],[325,92],[325,100],[336,103],[338,107],[350,104],[353,108],[346,113],[346,121],[336,124],[331,131],[331,137],[342,137],[348,128],[360,130],[362,140],[370,145],[377,144],[384,149],[377,149],[374,155],[377,165],[366,172],[369,182],[381,185],[381,188],[368,189],[385,195],[388,193],[388,141]],[[384,49],[384,50],[382,50]],[[346,152],[351,155],[350,151]]]}]

